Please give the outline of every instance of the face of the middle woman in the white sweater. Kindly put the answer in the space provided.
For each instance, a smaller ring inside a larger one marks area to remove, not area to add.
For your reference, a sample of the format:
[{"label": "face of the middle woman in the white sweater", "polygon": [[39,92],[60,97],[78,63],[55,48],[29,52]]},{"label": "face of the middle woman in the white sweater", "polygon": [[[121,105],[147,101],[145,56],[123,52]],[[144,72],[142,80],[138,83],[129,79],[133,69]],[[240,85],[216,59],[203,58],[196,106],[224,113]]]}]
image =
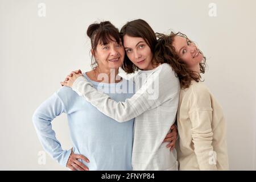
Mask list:
[{"label": "face of the middle woman in the white sweater", "polygon": [[152,69],[152,52],[148,44],[143,38],[135,38],[132,36],[123,36],[123,46],[125,47],[126,55],[137,65],[139,69]]}]

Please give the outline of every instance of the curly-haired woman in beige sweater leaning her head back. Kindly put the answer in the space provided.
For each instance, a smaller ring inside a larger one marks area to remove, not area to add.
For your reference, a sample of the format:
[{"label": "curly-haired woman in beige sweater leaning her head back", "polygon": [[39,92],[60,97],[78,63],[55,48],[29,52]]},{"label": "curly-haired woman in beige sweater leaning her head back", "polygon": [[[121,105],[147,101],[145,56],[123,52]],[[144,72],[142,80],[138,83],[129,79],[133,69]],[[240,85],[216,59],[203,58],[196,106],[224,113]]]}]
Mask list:
[{"label": "curly-haired woman in beige sweater leaning her head back", "polygon": [[221,106],[201,82],[205,57],[196,44],[180,32],[158,34],[158,59],[174,61],[181,92],[177,113],[180,170],[228,170],[226,124]]}]

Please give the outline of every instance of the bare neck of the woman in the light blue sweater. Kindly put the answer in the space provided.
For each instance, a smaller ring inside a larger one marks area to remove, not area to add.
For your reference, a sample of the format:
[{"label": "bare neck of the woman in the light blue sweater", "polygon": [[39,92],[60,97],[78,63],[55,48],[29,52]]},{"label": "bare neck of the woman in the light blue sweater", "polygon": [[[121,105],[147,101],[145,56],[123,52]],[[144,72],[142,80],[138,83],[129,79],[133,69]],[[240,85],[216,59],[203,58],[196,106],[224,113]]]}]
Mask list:
[{"label": "bare neck of the woman in the light blue sweater", "polygon": [[117,83],[121,81],[121,77],[118,76],[118,69],[100,68],[96,67],[92,71],[93,81],[105,82],[108,84]]}]

